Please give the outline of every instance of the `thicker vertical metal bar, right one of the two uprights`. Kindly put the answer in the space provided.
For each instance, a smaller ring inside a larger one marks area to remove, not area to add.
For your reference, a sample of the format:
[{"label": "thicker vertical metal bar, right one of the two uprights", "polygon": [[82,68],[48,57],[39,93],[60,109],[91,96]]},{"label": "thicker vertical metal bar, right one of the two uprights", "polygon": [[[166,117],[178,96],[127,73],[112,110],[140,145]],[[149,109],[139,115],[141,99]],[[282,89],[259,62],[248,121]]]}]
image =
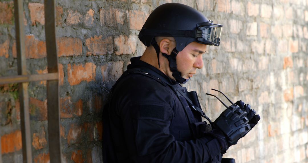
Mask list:
[{"label": "thicker vertical metal bar, right one of the two uprights", "polygon": [[[58,73],[55,0],[45,0],[45,35],[48,73]],[[51,163],[61,162],[59,80],[47,81],[48,139]]]}]

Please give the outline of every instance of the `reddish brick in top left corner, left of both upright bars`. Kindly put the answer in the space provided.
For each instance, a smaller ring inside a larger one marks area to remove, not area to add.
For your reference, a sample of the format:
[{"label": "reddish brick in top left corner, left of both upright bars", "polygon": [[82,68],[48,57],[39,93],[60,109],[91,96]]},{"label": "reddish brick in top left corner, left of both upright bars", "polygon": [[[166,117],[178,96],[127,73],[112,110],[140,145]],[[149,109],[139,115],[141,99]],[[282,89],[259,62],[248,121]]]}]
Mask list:
[{"label": "reddish brick in top left corner, left of both upright bars", "polygon": [[0,2],[0,24],[14,23],[14,2]]}]

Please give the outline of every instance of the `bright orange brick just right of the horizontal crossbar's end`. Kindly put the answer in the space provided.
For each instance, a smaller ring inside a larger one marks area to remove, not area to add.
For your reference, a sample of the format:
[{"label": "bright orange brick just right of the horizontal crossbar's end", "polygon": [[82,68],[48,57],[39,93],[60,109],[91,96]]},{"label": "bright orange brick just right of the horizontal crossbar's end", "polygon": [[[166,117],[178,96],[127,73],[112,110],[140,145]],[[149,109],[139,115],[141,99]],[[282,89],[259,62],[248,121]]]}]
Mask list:
[{"label": "bright orange brick just right of the horizontal crossbar's end", "polygon": [[86,63],[85,65],[71,65],[67,66],[68,82],[71,86],[79,84],[81,81],[95,80],[96,65],[93,63]]}]

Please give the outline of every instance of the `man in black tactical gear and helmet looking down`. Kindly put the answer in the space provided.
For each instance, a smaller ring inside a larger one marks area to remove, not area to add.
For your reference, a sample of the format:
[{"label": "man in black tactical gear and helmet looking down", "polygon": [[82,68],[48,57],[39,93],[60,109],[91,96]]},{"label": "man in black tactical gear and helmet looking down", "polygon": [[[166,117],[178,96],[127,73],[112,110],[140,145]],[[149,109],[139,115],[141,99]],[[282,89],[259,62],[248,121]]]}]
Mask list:
[{"label": "man in black tactical gear and helmet looking down", "polygon": [[207,46],[219,46],[221,28],[179,3],[153,10],[139,34],[147,48],[131,58],[104,109],[104,162],[221,162],[257,124],[241,101],[213,123],[196,92],[180,85],[203,67]]}]

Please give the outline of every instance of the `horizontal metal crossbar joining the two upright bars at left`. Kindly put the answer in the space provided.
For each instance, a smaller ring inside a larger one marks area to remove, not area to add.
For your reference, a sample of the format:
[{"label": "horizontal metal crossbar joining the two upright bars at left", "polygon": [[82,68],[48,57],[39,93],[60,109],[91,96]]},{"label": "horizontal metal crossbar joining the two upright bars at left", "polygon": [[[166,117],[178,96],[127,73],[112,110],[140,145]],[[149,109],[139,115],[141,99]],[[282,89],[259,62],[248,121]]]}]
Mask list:
[{"label": "horizontal metal crossbar joining the two upright bars at left", "polygon": [[22,83],[22,82],[29,82],[29,81],[57,80],[58,78],[59,78],[58,73],[0,77],[0,85],[1,84],[9,84],[9,83]]}]

